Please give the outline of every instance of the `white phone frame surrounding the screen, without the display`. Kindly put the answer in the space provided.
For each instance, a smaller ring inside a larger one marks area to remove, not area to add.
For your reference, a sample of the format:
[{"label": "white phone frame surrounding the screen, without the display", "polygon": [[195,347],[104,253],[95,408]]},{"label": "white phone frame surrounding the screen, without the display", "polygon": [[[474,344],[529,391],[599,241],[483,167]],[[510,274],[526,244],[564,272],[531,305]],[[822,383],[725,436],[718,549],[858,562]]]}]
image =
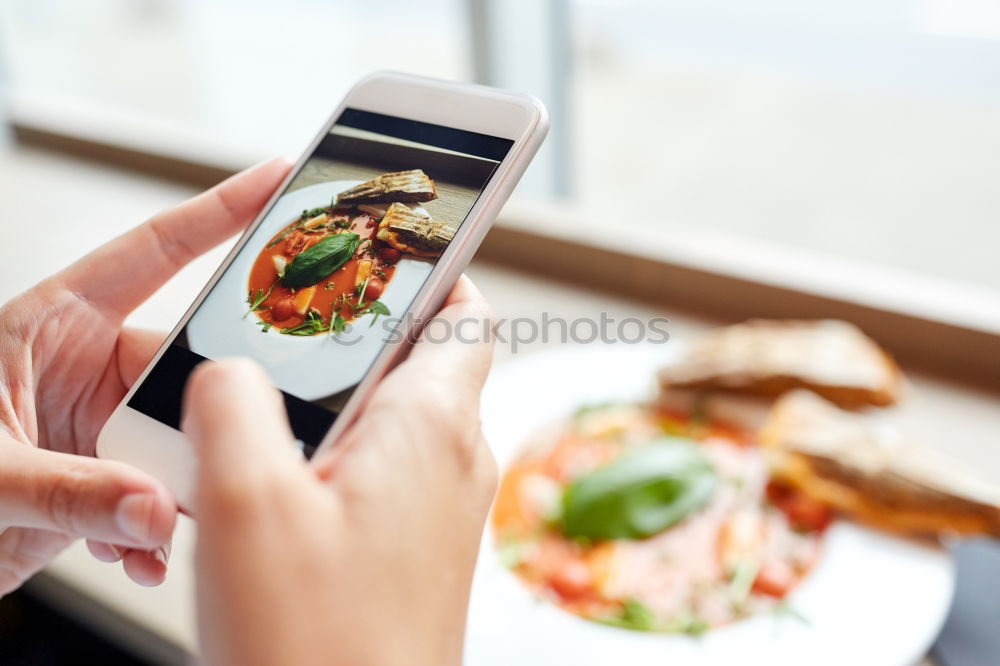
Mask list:
[{"label": "white phone frame surrounding the screen, without the display", "polygon": [[[514,141],[479,199],[469,211],[454,240],[438,260],[430,277],[417,292],[408,313],[401,317],[404,337],[418,331],[414,326],[437,312],[451,285],[458,279],[472,254],[489,230],[517,181],[534,156],[548,129],[548,115],[540,101],[529,95],[473,84],[440,81],[396,72],[378,72],[359,81],[323,124],[315,139],[303,151],[288,177],[267,201],[261,212],[237,240],[191,306],[157,350],[153,359],[131,387],[102,429],[97,455],[130,463],[160,479],[174,493],[178,504],[193,513],[196,462],[184,435],[128,406],[128,400],[145,381],[152,367],[215,287],[222,274],[247,243],[295,174],[333,127],[345,108],[434,123],[446,127],[490,134]],[[328,449],[355,420],[378,381],[406,352],[404,344],[387,344],[358,384],[344,410],[323,438],[317,455]]]}]

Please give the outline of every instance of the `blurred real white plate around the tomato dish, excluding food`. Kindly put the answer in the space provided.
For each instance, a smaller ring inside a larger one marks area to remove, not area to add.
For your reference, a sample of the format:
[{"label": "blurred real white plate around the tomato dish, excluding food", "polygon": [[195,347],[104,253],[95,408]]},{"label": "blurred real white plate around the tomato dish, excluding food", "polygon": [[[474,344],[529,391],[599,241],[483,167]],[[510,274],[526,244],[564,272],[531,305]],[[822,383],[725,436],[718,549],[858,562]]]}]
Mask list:
[{"label": "blurred real white plate around the tomato dish, excluding food", "polygon": [[[589,345],[498,366],[483,395],[483,429],[503,470],[525,438],[577,407],[635,400],[677,348]],[[605,627],[540,601],[500,563],[487,530],[469,614],[466,663],[475,666],[645,664],[872,664],[910,666],[939,632],[954,591],[942,549],[839,522],[820,561],[791,593],[805,622],[764,615],[700,638]]]}]

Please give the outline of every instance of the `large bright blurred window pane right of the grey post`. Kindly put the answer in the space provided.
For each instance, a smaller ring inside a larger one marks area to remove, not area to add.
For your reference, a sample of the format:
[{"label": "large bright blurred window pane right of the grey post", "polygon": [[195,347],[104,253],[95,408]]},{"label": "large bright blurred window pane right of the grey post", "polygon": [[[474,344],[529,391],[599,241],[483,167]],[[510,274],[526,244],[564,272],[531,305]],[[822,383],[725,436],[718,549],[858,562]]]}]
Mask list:
[{"label": "large bright blurred window pane right of the grey post", "polygon": [[572,16],[581,202],[1000,295],[1000,4],[573,0]]}]

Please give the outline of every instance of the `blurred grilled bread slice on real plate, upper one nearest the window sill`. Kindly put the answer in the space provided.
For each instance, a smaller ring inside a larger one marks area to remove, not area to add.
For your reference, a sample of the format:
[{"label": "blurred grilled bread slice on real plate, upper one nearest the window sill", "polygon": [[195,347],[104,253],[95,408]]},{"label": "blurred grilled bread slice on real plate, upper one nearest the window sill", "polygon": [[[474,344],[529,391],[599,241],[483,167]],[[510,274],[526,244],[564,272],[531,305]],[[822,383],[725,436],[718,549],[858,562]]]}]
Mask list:
[{"label": "blurred grilled bread slice on real plate, upper one nearest the window sill", "polygon": [[896,402],[896,362],[853,324],[766,320],[709,331],[659,372],[664,390],[776,397],[807,388],[849,409]]}]

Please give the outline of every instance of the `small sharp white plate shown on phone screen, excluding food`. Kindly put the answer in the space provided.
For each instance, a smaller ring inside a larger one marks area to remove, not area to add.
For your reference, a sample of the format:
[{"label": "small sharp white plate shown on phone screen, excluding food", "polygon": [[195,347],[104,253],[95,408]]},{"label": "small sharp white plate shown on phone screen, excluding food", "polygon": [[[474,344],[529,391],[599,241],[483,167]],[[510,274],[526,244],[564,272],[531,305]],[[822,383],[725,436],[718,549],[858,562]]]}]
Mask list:
[{"label": "small sharp white plate shown on phone screen, excluding food", "polygon": [[[361,381],[389,337],[386,317],[380,317],[374,326],[370,326],[371,316],[361,317],[340,335],[308,337],[282,335],[275,330],[263,333],[255,315],[243,317],[250,269],[267,241],[303,210],[325,206],[334,195],[361,182],[319,183],[278,199],[188,322],[191,351],[212,359],[249,356],[267,369],[279,388],[303,400],[319,400]],[[403,316],[433,267],[431,262],[418,259],[399,261],[380,299],[392,317]]]}]

